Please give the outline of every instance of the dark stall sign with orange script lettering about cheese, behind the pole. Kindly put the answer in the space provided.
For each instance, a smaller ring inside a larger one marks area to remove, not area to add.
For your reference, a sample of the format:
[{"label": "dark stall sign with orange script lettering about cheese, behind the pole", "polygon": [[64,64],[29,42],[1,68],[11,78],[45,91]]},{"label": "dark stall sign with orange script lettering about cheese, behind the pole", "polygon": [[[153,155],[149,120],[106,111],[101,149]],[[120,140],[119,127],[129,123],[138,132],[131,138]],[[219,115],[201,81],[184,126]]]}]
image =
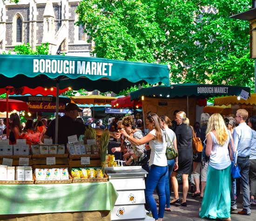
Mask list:
[{"label": "dark stall sign with orange script lettering about cheese, behind the pole", "polygon": [[[56,103],[53,102],[28,102],[28,110],[30,112],[55,112]],[[65,104],[59,105],[59,112],[65,111]]]}]

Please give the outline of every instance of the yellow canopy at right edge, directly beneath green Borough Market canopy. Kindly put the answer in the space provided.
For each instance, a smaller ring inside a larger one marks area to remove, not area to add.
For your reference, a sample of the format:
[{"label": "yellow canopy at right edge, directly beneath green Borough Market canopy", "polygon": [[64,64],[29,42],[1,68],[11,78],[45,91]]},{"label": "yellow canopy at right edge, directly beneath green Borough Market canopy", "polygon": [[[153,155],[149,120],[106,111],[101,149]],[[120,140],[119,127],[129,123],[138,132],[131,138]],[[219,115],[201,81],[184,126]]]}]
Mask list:
[{"label": "yellow canopy at right edge, directly beneath green Borough Market canopy", "polygon": [[247,99],[237,99],[237,96],[227,96],[227,97],[218,97],[214,99],[214,105],[222,106],[222,105],[235,105],[235,104],[250,104],[256,105],[256,94],[251,94],[251,96]]}]

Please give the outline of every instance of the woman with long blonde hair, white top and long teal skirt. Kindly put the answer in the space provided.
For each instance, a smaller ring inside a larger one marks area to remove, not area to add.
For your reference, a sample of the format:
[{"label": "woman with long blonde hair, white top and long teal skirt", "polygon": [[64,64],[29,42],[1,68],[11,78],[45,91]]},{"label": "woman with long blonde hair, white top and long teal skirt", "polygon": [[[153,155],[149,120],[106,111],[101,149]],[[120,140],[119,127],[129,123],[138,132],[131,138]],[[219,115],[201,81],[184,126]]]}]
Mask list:
[{"label": "woman with long blonde hair, white top and long teal skirt", "polygon": [[[232,144],[233,139],[220,114],[210,116],[206,136],[207,145],[205,154],[210,156],[210,160],[206,188],[199,216],[201,218],[218,218],[223,221],[231,221],[230,159],[232,159],[232,152],[230,139]],[[234,147],[234,144],[232,147]],[[231,155],[229,153],[231,153]]]}]

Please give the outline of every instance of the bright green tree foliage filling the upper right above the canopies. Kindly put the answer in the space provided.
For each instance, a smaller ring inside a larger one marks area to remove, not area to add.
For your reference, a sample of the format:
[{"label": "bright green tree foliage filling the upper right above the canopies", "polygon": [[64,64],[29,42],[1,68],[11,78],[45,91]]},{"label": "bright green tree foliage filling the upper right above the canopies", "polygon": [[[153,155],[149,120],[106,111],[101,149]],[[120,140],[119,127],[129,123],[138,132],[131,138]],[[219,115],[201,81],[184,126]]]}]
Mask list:
[{"label": "bright green tree foliage filling the upper right above the canopies", "polygon": [[170,80],[253,87],[249,23],[229,16],[250,0],[82,0],[97,57],[169,64]]}]

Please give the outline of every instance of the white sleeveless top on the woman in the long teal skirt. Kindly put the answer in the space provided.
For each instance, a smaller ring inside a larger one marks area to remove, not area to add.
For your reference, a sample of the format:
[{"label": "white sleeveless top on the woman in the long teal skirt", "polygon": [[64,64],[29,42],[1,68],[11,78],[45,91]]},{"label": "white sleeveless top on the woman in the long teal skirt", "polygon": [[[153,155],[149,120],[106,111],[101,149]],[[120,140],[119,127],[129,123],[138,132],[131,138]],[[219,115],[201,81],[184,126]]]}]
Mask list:
[{"label": "white sleeveless top on the woman in the long teal skirt", "polygon": [[[209,166],[222,170],[231,164],[230,157],[229,157],[229,137],[224,145],[220,145],[217,143],[216,136],[214,133],[210,132],[212,137],[212,151],[210,154]],[[229,134],[230,136],[230,134]]]}]

